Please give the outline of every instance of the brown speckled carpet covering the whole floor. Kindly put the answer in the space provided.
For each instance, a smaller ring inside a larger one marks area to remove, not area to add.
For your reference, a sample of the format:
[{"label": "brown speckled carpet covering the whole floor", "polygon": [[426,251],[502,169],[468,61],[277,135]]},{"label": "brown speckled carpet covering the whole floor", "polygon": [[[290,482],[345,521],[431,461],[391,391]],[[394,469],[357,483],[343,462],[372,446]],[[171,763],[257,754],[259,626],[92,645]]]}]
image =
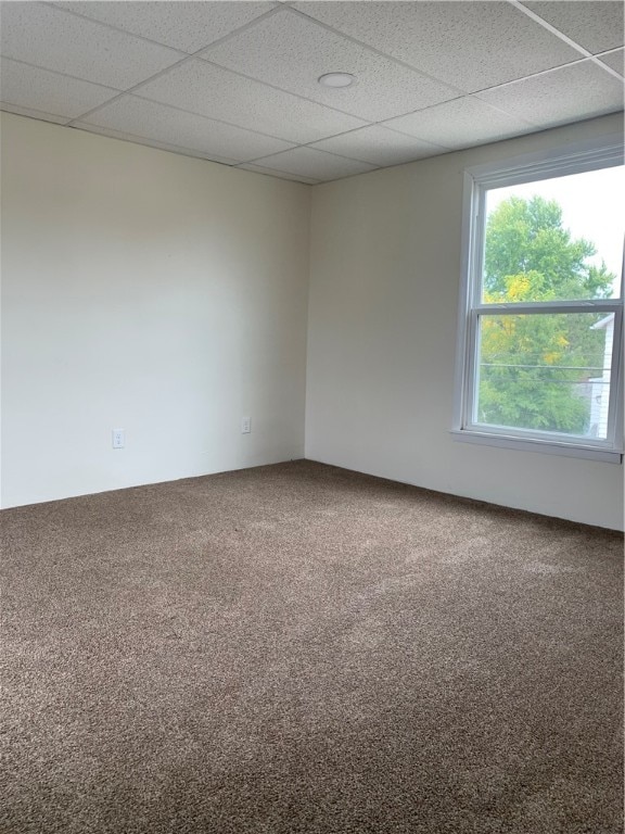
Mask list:
[{"label": "brown speckled carpet covering the whole floor", "polygon": [[623,538],[295,462],[5,510],[3,834],[620,834]]}]

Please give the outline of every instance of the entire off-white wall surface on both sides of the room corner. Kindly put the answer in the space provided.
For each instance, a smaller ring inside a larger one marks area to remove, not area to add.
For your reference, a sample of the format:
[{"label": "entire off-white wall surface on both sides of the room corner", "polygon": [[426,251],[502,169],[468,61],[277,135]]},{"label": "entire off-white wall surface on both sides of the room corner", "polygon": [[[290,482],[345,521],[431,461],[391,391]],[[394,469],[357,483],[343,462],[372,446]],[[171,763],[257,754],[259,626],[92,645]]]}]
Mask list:
[{"label": "entire off-white wall surface on both sides of the room corner", "polygon": [[621,124],[309,189],[3,114],[2,506],[304,454],[312,192],[306,456],[622,528],[621,466],[448,433],[462,170]]}]

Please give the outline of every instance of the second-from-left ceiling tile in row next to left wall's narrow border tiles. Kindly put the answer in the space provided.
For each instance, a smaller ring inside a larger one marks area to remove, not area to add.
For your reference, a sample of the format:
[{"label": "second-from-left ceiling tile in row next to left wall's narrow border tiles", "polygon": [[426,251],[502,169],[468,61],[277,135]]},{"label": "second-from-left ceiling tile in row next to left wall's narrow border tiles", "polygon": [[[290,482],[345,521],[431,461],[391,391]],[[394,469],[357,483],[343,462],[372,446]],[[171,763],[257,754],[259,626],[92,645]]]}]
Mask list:
[{"label": "second-from-left ceiling tile in row next to left wall's narrow border tiles", "polygon": [[124,96],[80,121],[81,125],[98,125],[124,134],[154,139],[167,144],[191,148],[208,155],[253,160],[292,147],[240,127],[214,122],[204,116],[168,108],[135,96]]}]

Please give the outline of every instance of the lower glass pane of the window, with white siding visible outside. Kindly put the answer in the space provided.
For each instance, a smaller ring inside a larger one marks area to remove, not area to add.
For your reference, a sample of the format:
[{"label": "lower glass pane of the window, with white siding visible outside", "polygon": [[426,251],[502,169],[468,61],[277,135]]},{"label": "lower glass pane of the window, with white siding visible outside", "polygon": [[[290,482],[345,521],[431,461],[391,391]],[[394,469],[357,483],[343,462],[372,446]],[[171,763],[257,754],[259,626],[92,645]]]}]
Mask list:
[{"label": "lower glass pane of the window, with white siding visible outside", "polygon": [[481,315],[476,424],[608,437],[614,314]]}]

